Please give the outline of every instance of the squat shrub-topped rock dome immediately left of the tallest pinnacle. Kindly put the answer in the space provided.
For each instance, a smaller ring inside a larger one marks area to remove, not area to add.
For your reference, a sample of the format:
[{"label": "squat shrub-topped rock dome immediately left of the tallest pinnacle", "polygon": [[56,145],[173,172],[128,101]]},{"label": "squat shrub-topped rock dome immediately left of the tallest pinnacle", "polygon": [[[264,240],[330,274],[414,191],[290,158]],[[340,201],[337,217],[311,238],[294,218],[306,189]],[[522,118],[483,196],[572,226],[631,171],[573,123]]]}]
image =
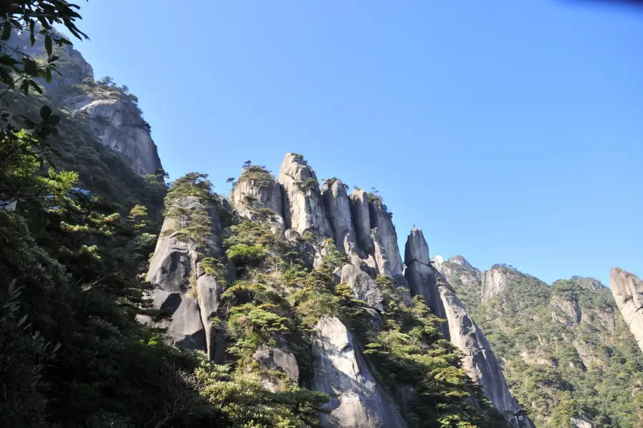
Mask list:
[{"label": "squat shrub-topped rock dome immediately left of the tallest pinnacle", "polygon": [[284,193],[276,181],[259,183],[256,180],[240,180],[234,186],[230,200],[236,212],[250,220],[258,220],[256,210],[268,208],[272,212],[270,223],[276,225],[276,229],[281,233],[286,230]]}]

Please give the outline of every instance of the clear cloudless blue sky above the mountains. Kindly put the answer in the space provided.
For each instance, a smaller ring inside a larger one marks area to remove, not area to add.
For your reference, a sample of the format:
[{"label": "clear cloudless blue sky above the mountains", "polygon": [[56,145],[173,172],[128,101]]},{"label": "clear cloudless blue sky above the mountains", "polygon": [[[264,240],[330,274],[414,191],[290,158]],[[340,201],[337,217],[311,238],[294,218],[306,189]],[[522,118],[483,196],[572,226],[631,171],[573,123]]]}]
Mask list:
[{"label": "clear cloudless blue sky above the mountains", "polygon": [[400,243],[552,282],[643,275],[643,9],[564,0],[90,0],[76,44],[171,177],[302,153]]}]

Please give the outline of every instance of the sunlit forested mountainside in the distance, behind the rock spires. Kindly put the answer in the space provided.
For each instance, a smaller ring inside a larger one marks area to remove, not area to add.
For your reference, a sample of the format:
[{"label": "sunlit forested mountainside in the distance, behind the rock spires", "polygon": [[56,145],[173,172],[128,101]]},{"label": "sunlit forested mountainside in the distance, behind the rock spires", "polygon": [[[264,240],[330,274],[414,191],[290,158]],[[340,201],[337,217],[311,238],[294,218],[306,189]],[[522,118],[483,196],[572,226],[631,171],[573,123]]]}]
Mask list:
[{"label": "sunlit forested mountainside in the distance, behind the rock spires", "polygon": [[[592,290],[585,278],[550,287],[507,265],[507,288],[481,304],[479,275],[456,270],[453,282],[482,328],[514,396],[537,427],[572,427],[572,417],[597,428],[643,423],[643,356],[614,305],[612,293]],[[479,296],[479,294],[477,294]]]}]

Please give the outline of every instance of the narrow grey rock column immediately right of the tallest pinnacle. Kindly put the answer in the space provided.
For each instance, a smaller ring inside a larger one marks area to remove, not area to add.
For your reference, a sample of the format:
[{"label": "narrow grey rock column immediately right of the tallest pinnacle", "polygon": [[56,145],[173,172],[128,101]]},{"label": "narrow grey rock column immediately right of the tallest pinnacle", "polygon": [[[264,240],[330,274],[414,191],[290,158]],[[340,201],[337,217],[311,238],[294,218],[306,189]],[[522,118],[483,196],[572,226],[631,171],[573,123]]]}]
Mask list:
[{"label": "narrow grey rock column immediately right of the tallest pinnacle", "polygon": [[340,180],[324,181],[321,198],[334,232],[337,248],[347,254],[362,253],[357,247],[349,198]]}]

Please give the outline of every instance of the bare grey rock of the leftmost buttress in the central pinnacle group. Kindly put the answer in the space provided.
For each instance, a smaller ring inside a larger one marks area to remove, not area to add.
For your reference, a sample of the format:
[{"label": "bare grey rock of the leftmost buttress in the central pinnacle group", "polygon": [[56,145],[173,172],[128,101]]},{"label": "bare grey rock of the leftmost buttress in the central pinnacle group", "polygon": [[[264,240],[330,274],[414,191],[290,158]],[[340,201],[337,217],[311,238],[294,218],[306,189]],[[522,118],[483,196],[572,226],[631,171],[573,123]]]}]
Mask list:
[{"label": "bare grey rock of the leftmost buttress in the central pinnacle group", "polygon": [[[218,215],[214,208],[207,208],[199,199],[190,196],[179,201],[190,210],[208,210],[212,219],[211,253],[220,255],[220,231]],[[169,310],[171,318],[153,322],[149,317],[140,320],[154,327],[166,328],[166,337],[172,345],[191,350],[202,350],[212,360],[222,358],[223,350],[216,349],[215,332],[210,319],[219,308],[223,287],[199,267],[196,249],[176,238],[176,220],[166,218],[161,228],[161,238],[151,258],[147,280],[155,285],[151,292],[155,309]],[[167,234],[171,233],[171,234]],[[216,234],[219,235],[216,235]],[[196,277],[196,290],[190,292],[190,278]]]}]

